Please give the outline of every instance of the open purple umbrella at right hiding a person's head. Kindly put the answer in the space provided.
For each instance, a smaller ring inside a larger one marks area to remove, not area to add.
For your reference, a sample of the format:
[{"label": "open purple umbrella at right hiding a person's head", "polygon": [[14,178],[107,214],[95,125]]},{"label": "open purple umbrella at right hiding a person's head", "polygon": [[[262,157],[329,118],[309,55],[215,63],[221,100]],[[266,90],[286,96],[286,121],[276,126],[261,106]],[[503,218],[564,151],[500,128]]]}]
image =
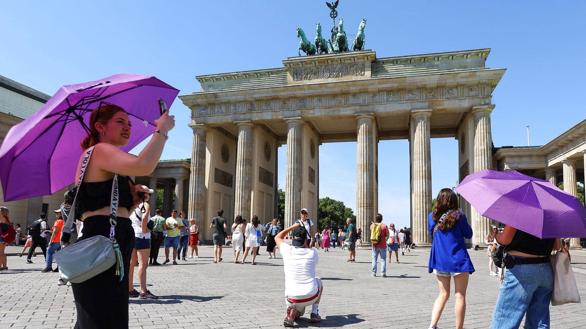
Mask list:
[{"label": "open purple umbrella at right hiding a person's head", "polygon": [[466,176],[456,191],[483,216],[538,238],[586,237],[586,208],[550,181],[487,169]]}]

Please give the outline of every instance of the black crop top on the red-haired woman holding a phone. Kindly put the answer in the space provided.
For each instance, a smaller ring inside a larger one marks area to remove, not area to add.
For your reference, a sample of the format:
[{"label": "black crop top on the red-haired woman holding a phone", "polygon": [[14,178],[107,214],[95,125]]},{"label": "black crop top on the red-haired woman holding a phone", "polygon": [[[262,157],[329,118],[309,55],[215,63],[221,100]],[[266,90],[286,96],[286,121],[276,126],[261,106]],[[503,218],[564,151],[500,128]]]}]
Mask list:
[{"label": "black crop top on the red-haired woman holding a phone", "polygon": [[[128,176],[118,175],[118,207],[125,207],[131,210],[134,205],[134,197],[130,193],[128,181],[134,185],[134,181]],[[111,180],[93,181],[90,183],[81,182],[76,200],[76,217],[81,218],[81,214],[86,211],[96,211],[98,209],[109,207],[112,195]]]}]

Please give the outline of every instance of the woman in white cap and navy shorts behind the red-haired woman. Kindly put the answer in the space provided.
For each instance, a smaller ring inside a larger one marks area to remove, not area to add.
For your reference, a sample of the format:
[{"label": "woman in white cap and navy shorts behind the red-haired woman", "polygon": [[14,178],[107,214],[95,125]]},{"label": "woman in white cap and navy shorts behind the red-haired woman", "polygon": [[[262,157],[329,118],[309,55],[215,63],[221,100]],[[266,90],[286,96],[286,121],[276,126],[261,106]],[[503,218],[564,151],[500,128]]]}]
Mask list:
[{"label": "woman in white cap and navy shorts behind the red-haired woman", "polygon": [[[149,190],[148,187],[142,186],[143,189]],[[144,202],[139,204],[130,214],[130,221],[132,228],[134,228],[134,249],[132,249],[132,256],[130,258],[130,272],[128,272],[128,297],[137,297],[139,299],[158,299],[147,290],[147,266],[148,256],[151,253],[151,231],[147,228],[148,221],[151,220],[151,207],[148,204],[151,193],[154,190],[149,190],[149,193],[145,193]],[[144,211],[144,213],[143,213]],[[137,292],[134,289],[134,283],[132,276],[134,273],[134,267],[138,261],[138,283],[141,287],[141,291]]]}]

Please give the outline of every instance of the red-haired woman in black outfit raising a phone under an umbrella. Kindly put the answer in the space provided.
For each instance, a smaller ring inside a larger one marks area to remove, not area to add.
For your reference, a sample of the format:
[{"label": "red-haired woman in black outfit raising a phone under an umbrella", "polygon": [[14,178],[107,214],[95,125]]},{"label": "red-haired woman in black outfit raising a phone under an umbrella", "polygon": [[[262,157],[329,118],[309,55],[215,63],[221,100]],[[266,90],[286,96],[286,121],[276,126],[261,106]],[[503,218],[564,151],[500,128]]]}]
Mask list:
[{"label": "red-haired woman in black outfit raising a phone under an umbrella", "polygon": [[[131,211],[142,202],[138,192],[146,192],[141,185],[133,184],[128,176],[146,176],[155,169],[167,133],[175,126],[169,112],[155,120],[152,139],[138,156],[120,148],[127,145],[132,133],[131,121],[121,107],[106,104],[94,109],[90,115],[90,133],[81,142],[87,150],[94,146],[87,162],[83,181],[77,186],[76,215],[83,221],[83,235],[87,239],[96,235],[110,235],[110,205],[114,174],[118,174],[118,211],[115,239],[120,245],[124,262],[122,280],[115,274],[116,265],[81,282],[73,283],[73,296],[77,309],[76,329],[128,328],[128,271],[134,248],[134,229]],[[84,156],[86,152],[84,152]],[[84,156],[77,165],[79,174]],[[71,173],[73,174],[73,173]]]}]

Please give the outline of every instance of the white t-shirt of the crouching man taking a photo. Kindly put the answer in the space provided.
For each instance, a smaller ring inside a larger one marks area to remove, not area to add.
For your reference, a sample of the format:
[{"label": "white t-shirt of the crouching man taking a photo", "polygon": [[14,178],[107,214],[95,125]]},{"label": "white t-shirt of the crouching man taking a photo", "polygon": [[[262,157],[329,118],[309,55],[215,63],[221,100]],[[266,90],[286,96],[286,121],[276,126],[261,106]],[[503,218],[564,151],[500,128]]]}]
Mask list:
[{"label": "white t-shirt of the crouching man taking a photo", "polygon": [[285,270],[285,296],[305,296],[318,292],[315,266],[318,252],[315,249],[295,248],[282,242],[279,245]]}]

